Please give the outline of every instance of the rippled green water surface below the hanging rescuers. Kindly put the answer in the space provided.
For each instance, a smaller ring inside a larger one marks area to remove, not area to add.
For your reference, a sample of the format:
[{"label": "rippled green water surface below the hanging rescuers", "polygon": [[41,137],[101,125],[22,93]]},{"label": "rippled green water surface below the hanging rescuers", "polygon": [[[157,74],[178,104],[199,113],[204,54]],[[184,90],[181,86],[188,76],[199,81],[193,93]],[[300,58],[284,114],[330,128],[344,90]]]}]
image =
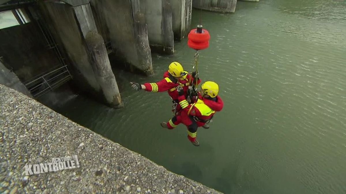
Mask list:
[{"label": "rippled green water surface below the hanging rescuers", "polygon": [[[193,11],[192,26],[199,22]],[[202,13],[211,34],[200,76],[219,83],[224,109],[200,147],[169,131],[166,93],[130,89],[158,80],[173,60],[192,70],[186,39],[153,54],[153,77],[114,70],[125,108],[78,96],[57,110],[159,165],[224,193],[346,193],[346,1],[239,1]]]}]

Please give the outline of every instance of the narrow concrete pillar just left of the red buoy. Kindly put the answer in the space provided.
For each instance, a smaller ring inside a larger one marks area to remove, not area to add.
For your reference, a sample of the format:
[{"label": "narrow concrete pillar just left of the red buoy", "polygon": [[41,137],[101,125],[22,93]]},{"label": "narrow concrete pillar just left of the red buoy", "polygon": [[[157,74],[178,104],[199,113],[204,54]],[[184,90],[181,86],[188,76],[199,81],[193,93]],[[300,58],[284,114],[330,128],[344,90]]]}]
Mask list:
[{"label": "narrow concrete pillar just left of the red buoy", "polygon": [[175,40],[184,38],[190,30],[192,0],[170,0],[172,7],[172,30]]}]

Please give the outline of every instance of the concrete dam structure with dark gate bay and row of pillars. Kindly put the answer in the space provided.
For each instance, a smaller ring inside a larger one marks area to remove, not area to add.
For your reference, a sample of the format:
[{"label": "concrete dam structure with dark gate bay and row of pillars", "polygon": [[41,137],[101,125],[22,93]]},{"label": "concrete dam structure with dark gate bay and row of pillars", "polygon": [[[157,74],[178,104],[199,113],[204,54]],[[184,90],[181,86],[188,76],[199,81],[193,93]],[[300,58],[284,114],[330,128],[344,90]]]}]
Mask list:
[{"label": "concrete dam structure with dark gate bay and row of pillars", "polygon": [[[112,67],[152,75],[151,52],[173,54],[174,39],[189,31],[192,0],[49,0],[6,8],[21,9],[13,14],[28,21],[0,29],[3,65],[35,98],[72,79],[79,90],[119,108]],[[89,32],[99,37],[93,46]]]}]

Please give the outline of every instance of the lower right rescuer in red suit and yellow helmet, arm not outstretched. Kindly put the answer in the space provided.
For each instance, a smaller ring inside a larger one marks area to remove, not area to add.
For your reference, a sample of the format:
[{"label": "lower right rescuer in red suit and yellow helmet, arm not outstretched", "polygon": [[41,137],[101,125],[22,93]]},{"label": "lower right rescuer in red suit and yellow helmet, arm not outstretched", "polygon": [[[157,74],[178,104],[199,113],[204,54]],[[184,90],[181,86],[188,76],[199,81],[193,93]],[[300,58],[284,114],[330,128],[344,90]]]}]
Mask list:
[{"label": "lower right rescuer in red suit and yellow helmet, arm not outstretched", "polygon": [[182,108],[179,115],[174,116],[169,122],[162,122],[161,126],[173,129],[180,123],[188,128],[188,139],[190,142],[199,146],[197,128],[208,124],[216,111],[221,111],[224,102],[218,96],[219,86],[213,81],[206,81],[201,86],[201,92],[194,103],[186,101],[182,88],[178,88],[179,104]]}]

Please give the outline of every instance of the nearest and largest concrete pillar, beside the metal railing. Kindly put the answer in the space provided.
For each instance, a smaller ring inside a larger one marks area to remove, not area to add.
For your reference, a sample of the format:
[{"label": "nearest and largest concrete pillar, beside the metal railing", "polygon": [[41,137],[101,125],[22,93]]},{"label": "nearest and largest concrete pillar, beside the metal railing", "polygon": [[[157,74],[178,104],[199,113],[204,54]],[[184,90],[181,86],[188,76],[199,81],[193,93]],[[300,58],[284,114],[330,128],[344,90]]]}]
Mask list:
[{"label": "nearest and largest concrete pillar, beside the metal railing", "polygon": [[58,45],[62,45],[68,55],[74,83],[100,101],[106,101],[108,106],[120,107],[119,90],[110,68],[107,51],[106,55],[103,52],[102,37],[102,40],[94,41],[97,42],[94,47],[98,50],[86,44],[89,32],[97,33],[90,0],[64,1],[66,3],[41,1],[40,6]]}]

